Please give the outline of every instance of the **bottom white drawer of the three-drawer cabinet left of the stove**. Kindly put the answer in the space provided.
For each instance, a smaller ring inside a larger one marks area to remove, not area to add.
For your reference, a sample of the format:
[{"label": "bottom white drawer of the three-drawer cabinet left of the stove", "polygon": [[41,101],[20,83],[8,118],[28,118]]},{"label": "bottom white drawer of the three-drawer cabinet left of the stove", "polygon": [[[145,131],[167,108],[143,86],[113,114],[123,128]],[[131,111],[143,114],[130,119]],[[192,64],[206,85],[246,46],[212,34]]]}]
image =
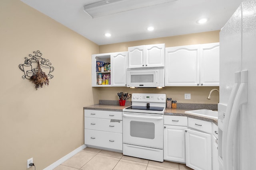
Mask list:
[{"label": "bottom white drawer of the three-drawer cabinet left of the stove", "polygon": [[84,130],[84,144],[109,149],[123,149],[122,133]]}]

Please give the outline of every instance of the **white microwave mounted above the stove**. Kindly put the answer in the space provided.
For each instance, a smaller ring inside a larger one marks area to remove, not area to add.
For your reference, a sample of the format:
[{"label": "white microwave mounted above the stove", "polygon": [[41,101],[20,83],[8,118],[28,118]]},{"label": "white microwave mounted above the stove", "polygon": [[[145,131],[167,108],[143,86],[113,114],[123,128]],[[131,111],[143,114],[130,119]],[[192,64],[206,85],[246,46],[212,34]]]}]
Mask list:
[{"label": "white microwave mounted above the stove", "polygon": [[164,68],[128,69],[127,87],[164,87]]}]

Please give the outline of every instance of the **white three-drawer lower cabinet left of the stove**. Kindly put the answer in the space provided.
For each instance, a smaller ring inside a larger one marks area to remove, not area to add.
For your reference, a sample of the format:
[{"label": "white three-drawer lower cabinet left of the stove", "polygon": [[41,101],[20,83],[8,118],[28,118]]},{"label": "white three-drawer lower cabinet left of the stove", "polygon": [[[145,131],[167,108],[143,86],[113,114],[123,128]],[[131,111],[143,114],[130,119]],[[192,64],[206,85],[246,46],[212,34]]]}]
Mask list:
[{"label": "white three-drawer lower cabinet left of the stove", "polygon": [[122,150],[122,112],[84,110],[84,144]]}]

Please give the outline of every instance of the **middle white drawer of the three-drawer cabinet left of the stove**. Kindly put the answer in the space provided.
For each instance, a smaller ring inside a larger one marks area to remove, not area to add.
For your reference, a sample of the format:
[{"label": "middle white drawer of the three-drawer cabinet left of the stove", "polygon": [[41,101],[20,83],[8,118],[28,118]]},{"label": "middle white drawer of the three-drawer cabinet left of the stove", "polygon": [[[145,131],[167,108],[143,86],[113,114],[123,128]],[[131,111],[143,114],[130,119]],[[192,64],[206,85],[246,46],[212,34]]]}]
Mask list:
[{"label": "middle white drawer of the three-drawer cabinet left of the stove", "polygon": [[115,119],[84,117],[84,128],[99,131],[122,133],[123,121]]}]

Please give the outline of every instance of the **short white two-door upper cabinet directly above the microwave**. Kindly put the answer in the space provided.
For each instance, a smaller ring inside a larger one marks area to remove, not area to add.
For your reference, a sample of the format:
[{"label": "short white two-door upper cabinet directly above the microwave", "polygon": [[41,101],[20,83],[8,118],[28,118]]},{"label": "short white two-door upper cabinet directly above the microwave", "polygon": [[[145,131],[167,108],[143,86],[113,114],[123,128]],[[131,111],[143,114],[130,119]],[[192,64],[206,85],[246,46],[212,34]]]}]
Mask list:
[{"label": "short white two-door upper cabinet directly above the microwave", "polygon": [[128,68],[163,67],[165,44],[128,47]]}]

